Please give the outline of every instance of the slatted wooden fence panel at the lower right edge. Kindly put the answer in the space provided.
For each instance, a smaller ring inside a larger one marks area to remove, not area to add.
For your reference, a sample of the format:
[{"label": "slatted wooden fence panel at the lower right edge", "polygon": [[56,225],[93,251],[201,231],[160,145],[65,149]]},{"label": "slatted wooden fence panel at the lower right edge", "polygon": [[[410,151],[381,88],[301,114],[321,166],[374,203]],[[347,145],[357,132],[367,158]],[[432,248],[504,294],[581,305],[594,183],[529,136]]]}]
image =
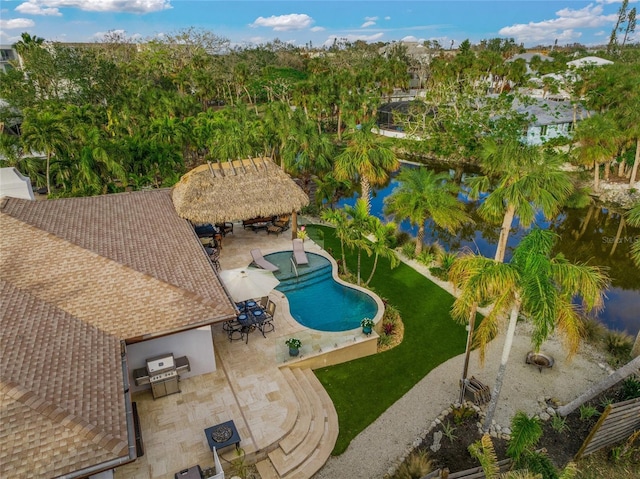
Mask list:
[{"label": "slatted wooden fence panel at the lower right edge", "polygon": [[609,404],[575,456],[578,460],[640,430],[640,398]]}]

